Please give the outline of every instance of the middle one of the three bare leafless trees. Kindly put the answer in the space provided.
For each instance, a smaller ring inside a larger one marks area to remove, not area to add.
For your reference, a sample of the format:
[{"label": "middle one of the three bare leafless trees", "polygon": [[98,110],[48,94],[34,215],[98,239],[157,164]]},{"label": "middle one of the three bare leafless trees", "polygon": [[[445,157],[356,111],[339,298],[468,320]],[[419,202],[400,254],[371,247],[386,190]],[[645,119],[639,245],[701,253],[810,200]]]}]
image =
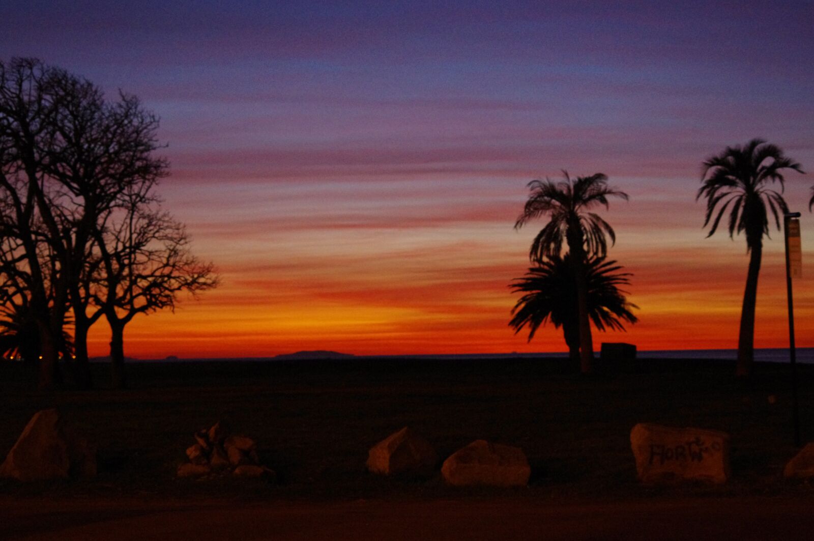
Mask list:
[{"label": "middle one of the three bare leafless trees", "polygon": [[58,219],[63,231],[70,231],[61,252],[74,319],[77,383],[87,388],[87,335],[101,316],[100,310],[92,310],[88,291],[100,265],[94,231],[128,204],[129,194],[149,193],[167,174],[167,162],[152,155],[160,147],[158,119],[135,96],[120,93],[118,100],[107,102],[92,83],[64,72],[51,85],[63,101],[55,124],[61,143],[50,152],[45,173],[70,198],[60,201]]}]

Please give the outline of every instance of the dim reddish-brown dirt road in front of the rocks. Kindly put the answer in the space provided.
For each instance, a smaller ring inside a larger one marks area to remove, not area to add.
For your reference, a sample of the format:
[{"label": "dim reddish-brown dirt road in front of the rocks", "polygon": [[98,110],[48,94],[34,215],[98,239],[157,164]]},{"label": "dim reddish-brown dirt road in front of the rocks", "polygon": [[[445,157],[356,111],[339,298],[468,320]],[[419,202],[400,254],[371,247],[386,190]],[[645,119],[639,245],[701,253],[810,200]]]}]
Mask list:
[{"label": "dim reddish-brown dirt road in front of the rocks", "polygon": [[0,502],[0,539],[814,539],[811,499]]}]

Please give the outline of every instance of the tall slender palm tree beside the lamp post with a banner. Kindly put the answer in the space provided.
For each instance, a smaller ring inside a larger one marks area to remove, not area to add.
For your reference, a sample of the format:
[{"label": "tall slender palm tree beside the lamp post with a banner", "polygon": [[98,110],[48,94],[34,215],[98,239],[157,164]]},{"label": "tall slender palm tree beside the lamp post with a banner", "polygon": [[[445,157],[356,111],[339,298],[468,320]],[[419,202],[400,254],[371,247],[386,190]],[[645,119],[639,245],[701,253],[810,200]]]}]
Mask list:
[{"label": "tall slender palm tree beside the lamp post with a banner", "polygon": [[[763,238],[768,237],[768,211],[779,230],[781,214],[789,210],[781,195],[786,180],[783,169],[803,173],[799,163],[787,157],[780,147],[763,139],[752,139],[743,147],[726,147],[720,154],[707,158],[702,165],[702,187],[695,196],[695,200],[702,196],[707,199],[704,227],[711,224],[707,238],[715,234],[727,209],[729,237],[734,238],[736,232],[746,234],[750,258],[737,339],[738,377],[751,375],[755,358],[755,301]],[[773,183],[780,186],[780,191],[772,188]]]}]

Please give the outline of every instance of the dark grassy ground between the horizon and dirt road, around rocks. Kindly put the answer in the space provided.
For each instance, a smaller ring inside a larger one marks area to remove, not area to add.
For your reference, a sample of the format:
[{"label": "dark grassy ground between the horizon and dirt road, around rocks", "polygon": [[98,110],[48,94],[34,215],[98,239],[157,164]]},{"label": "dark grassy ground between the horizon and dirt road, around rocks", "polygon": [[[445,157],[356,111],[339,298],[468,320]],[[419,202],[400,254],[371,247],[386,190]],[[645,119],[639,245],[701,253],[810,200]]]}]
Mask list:
[{"label": "dark grassy ground between the horizon and dirt road, around rocks", "polygon": [[[37,394],[20,367],[0,363],[0,455],[34,412],[59,407],[98,443],[90,481],[21,484],[0,496],[358,499],[493,495],[540,499],[637,499],[696,495],[814,495],[786,482],[795,453],[790,375],[759,365],[738,383],[729,363],[640,362],[637,372],[586,380],[551,360],[344,360],[278,363],[162,363],[129,367],[131,389]],[[803,441],[814,438],[814,371],[799,372]],[[777,397],[769,403],[768,396]],[[255,438],[278,483],[175,478],[192,433],[217,420]],[[629,433],[637,422],[698,426],[732,435],[726,486],[646,488],[636,482]],[[409,425],[445,458],[484,438],[520,446],[532,465],[527,488],[454,489],[430,479],[365,471],[367,451]]]}]

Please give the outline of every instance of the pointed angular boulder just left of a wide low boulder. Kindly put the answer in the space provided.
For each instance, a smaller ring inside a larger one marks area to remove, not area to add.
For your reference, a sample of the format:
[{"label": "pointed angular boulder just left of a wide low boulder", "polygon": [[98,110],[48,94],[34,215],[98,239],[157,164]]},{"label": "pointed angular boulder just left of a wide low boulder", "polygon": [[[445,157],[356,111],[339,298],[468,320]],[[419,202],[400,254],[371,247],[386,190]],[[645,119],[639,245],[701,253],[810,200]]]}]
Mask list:
[{"label": "pointed angular boulder just left of a wide low boulder", "polygon": [[438,455],[429,442],[405,427],[370,448],[367,468],[373,473],[393,475],[415,473],[428,475],[435,468]]}]

